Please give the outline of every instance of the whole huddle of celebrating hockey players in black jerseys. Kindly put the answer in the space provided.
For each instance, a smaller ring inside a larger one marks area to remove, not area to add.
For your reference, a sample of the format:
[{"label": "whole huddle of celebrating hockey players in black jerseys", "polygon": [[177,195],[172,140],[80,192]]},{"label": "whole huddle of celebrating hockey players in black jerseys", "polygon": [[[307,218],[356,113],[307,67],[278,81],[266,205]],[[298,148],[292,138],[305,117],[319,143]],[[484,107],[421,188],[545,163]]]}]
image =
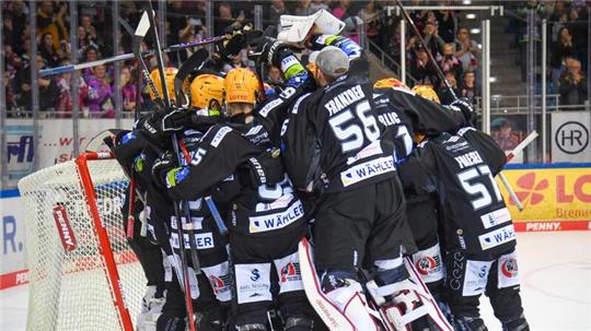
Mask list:
[{"label": "whole huddle of celebrating hockey players in black jerseys", "polygon": [[138,330],[486,330],[482,294],[503,330],[529,330],[494,179],[506,157],[473,128],[472,105],[373,84],[343,36],[311,33],[304,66],[293,45],[244,34],[227,43],[280,68],[282,84],[223,72],[220,45],[182,94],[166,68],[184,106],[111,138],[142,198],[130,240],[148,279]]}]

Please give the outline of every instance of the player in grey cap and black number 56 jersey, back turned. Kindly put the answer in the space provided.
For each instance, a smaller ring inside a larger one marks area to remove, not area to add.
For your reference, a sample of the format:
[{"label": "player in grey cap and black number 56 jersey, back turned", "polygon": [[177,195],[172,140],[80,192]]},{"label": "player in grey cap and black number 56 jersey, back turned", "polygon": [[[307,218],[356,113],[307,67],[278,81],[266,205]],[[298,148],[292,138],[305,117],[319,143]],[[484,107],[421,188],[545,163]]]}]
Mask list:
[{"label": "player in grey cap and black number 56 jersey, back turned", "polygon": [[339,36],[309,44],[322,49],[314,72],[321,88],[290,111],[285,162],[294,187],[318,197],[313,236],[322,291],[356,330],[378,330],[357,272],[373,272],[390,316],[392,297],[404,294],[387,288],[408,279],[402,255],[415,250],[392,141],[378,120],[361,48]]}]

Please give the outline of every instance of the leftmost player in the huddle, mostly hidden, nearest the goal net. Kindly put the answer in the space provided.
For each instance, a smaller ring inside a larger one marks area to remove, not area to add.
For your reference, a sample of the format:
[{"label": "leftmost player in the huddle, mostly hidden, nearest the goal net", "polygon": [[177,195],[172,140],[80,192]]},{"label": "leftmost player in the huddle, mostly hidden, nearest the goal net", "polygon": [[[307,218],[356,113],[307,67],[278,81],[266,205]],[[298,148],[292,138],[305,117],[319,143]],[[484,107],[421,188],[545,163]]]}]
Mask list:
[{"label": "leftmost player in the huddle, mostly hidden, nearest the goal net", "polygon": [[[176,71],[176,68],[166,69],[169,87],[173,85],[172,82]],[[162,94],[158,74],[158,70],[154,70],[150,78],[155,79],[153,83],[157,92]],[[153,92],[151,92],[151,97],[152,99],[155,98]],[[169,264],[167,261],[163,260],[163,253],[166,256],[172,255],[169,245],[169,230],[165,226],[166,220],[173,214],[172,200],[154,186],[150,168],[159,153],[147,146],[147,140],[138,133],[138,130],[119,131],[115,137],[107,138],[107,144],[112,146],[115,157],[121,167],[126,169],[126,173],[134,174],[137,191],[144,198],[143,203],[136,194],[135,210],[132,211],[136,220],[135,235],[129,240],[129,245],[138,257],[148,280],[146,295],[142,298],[142,309],[137,317],[138,330],[144,330],[150,326],[155,328],[155,322],[165,305],[165,289],[167,287],[165,269]],[[129,194],[126,194],[126,197],[129,197]],[[126,199],[123,206],[123,218],[125,221],[127,221],[128,204],[129,201]],[[140,236],[143,222],[148,223],[148,229],[150,230],[147,237]],[[124,222],[124,225],[127,227],[127,222]]]}]

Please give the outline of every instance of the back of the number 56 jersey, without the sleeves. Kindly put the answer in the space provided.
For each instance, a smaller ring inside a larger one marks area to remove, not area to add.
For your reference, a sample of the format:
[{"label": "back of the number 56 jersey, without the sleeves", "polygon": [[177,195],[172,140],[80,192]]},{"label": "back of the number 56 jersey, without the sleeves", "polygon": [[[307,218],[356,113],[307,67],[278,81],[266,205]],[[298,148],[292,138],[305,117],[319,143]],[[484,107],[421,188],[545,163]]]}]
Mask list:
[{"label": "back of the number 56 jersey, without the sleeves", "polygon": [[314,93],[321,96],[311,117],[321,144],[320,168],[327,191],[348,190],[394,176],[392,141],[378,120],[372,93],[369,82],[346,76]]}]

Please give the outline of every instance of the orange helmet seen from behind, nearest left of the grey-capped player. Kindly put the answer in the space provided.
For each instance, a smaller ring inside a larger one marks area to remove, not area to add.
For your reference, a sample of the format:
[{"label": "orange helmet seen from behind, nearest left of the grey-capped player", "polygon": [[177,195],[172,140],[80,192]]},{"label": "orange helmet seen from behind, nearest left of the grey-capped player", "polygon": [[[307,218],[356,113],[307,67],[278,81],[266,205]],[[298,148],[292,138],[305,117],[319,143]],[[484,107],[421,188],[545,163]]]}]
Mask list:
[{"label": "orange helmet seen from behind, nearest left of the grey-capped player", "polygon": [[228,72],[224,82],[225,103],[255,104],[258,92],[258,78],[256,74],[244,68],[235,68]]}]

